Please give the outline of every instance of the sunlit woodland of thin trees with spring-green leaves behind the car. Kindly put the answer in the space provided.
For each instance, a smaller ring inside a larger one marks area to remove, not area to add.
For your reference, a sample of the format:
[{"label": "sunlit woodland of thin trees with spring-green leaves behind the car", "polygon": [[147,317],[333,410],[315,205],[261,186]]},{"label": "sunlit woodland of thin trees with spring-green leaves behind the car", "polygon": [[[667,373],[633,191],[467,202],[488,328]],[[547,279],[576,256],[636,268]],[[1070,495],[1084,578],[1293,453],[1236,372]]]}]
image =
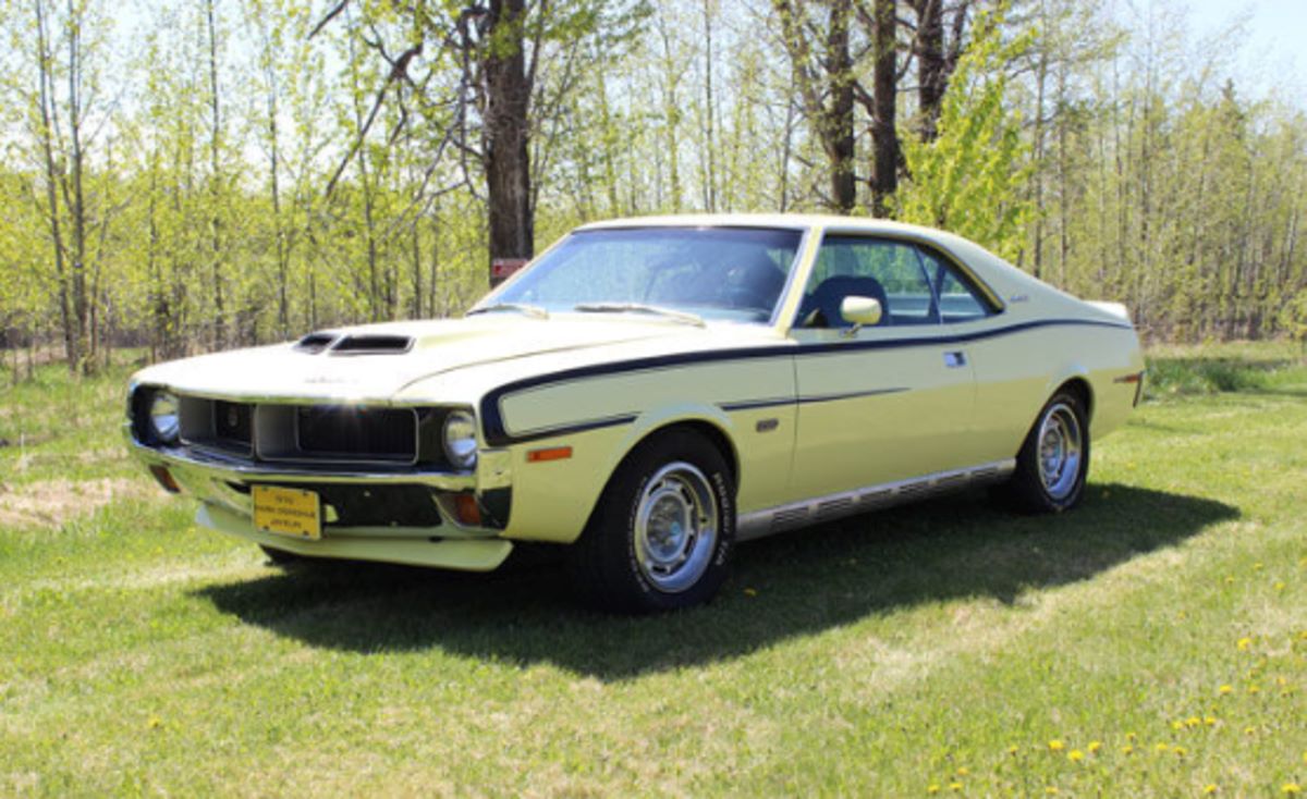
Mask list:
[{"label": "sunlit woodland of thin trees with spring-green leaves behind the car", "polygon": [[1238,44],[1163,1],[16,0],[0,355],[459,313],[491,258],[699,210],[933,225],[1150,341],[1303,338],[1307,116]]}]

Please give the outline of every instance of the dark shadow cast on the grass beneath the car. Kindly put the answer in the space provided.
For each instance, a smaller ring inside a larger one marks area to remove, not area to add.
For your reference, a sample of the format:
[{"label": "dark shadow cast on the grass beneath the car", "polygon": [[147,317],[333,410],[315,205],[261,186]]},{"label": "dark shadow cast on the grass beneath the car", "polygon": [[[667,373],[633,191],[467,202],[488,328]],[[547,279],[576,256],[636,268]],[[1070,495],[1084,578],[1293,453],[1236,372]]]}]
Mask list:
[{"label": "dark shadow cast on the grass beneath the car", "polygon": [[744,544],[715,602],[637,619],[579,607],[559,564],[538,557],[491,574],[314,564],[196,594],[311,646],[439,649],[621,680],[923,603],[1013,603],[1238,516],[1210,499],[1121,484],[1091,484],[1077,510],[1056,517],[1014,516],[963,494]]}]

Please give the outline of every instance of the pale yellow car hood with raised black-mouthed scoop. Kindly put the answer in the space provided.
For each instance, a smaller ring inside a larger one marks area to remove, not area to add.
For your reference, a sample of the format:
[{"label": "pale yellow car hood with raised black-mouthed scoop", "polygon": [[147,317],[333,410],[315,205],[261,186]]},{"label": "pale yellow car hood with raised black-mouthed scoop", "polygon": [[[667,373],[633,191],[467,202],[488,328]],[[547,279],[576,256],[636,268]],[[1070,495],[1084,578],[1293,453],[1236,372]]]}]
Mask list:
[{"label": "pale yellow car hood with raised black-mouthed scoop", "polygon": [[386,343],[396,349],[376,354],[344,354],[329,349],[311,352],[294,343],[282,343],[162,363],[137,372],[133,380],[186,394],[230,400],[387,402],[405,386],[468,367],[499,364],[503,368],[495,372],[529,373],[545,368],[554,354],[575,360],[578,352],[589,351],[586,360],[604,362],[631,349],[642,352],[694,350],[712,341],[715,329],[634,316],[541,320],[495,313],[363,325],[327,333],[388,337]]}]

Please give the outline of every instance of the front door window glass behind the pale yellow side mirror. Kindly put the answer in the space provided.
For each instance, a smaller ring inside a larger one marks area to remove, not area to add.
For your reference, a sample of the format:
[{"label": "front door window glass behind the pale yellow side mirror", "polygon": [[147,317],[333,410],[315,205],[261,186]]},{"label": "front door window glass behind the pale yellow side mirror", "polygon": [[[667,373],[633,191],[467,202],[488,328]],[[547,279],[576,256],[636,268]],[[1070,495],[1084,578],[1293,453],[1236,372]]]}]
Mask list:
[{"label": "front door window glass behind the pale yellow side mirror", "polygon": [[842,328],[846,296],[881,303],[878,326],[936,325],[935,294],[916,248],[887,239],[826,236],[800,306],[799,326]]}]

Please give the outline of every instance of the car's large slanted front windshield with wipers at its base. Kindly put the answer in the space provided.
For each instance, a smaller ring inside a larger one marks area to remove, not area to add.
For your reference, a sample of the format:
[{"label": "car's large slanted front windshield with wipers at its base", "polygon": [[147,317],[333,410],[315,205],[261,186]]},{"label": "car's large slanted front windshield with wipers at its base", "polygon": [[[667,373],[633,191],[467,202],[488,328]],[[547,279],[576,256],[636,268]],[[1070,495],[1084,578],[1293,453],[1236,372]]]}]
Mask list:
[{"label": "car's large slanted front windshield with wipers at its base", "polygon": [[761,227],[644,227],[571,234],[494,296],[549,312],[680,311],[765,322],[802,232]]}]

